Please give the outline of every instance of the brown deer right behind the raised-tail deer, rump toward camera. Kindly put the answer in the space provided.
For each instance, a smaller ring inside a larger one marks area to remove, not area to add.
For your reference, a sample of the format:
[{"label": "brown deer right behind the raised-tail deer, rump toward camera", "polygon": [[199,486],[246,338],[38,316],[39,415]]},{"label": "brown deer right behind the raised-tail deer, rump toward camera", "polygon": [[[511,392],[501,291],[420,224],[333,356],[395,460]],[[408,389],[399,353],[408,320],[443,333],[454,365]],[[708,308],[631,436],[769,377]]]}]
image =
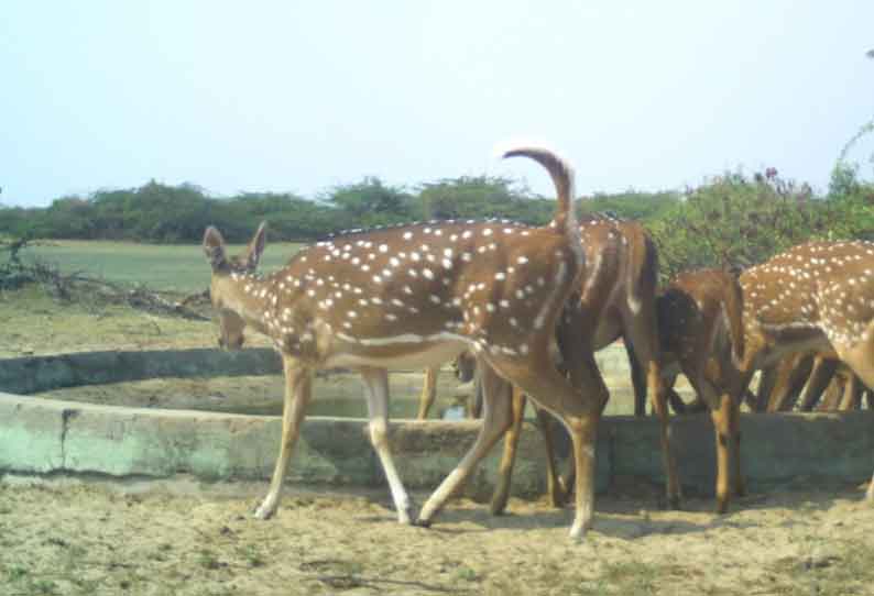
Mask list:
[{"label": "brown deer right behind the raised-tail deer, rump toward camera", "polygon": [[[653,409],[662,426],[662,452],[667,477],[668,503],[678,507],[680,484],[670,445],[668,411],[665,387],[659,366],[658,329],[656,323],[655,295],[658,257],[655,244],[640,223],[613,218],[593,217],[580,225],[580,239],[586,253],[587,267],[572,307],[573,319],[565,317],[559,323],[566,336],[573,336],[586,349],[585,366],[589,376],[603,384],[593,362],[593,352],[622,338],[629,358],[638,366],[632,367],[635,389],[635,413],[644,413],[646,395],[653,400]],[[564,364],[572,371],[576,361]],[[643,369],[644,374],[641,374]],[[525,396],[514,393],[513,424],[504,440],[504,454],[499,468],[499,481],[492,497],[491,510],[501,514],[506,507],[510,482],[515,460]],[[554,463],[551,417],[535,408],[538,426],[546,446],[547,489],[554,505],[565,500],[566,486],[558,476]]]}]

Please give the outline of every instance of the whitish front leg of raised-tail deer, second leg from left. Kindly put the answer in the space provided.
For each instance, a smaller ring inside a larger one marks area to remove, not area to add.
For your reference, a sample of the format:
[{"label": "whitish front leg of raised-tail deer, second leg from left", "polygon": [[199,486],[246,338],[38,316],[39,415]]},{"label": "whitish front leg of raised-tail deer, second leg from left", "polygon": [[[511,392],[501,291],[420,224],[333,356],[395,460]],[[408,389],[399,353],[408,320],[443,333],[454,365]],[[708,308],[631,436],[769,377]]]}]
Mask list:
[{"label": "whitish front leg of raised-tail deer, second leg from left", "polygon": [[[429,368],[433,371],[433,368]],[[394,465],[389,449],[389,373],[385,368],[362,368],[361,377],[367,388],[368,411],[370,413],[370,442],[380,457],[385,479],[392,492],[392,499],[397,511],[397,521],[412,522],[413,504],[401,482],[401,475]]]}]

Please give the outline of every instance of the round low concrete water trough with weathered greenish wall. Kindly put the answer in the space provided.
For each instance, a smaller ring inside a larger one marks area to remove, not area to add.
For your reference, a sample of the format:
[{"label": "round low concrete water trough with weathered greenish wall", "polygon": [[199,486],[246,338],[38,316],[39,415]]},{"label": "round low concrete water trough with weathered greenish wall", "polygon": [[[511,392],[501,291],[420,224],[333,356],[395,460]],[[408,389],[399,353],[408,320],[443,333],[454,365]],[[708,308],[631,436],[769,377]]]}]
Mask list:
[{"label": "round low concrete water trough with weathered greenish wall", "polygon": [[[0,360],[0,473],[266,479],[278,450],[276,416],[125,408],[35,394],[159,377],[280,374],[278,357],[258,349]],[[392,448],[405,484],[412,489],[437,486],[472,443],[478,424],[392,420]],[[799,479],[861,484],[874,470],[874,411],[744,415],[741,427],[744,473],[752,490]],[[675,418],[674,437],[687,493],[711,494],[714,446],[709,416]],[[493,450],[480,466],[468,484],[468,495],[489,494],[500,451]],[[538,433],[526,424],[514,473],[515,495],[543,492],[542,455]],[[309,417],[289,476],[301,483],[384,484],[370,448],[367,420]],[[658,427],[653,418],[608,416],[599,433],[598,487],[604,490],[629,479],[662,483]]]}]

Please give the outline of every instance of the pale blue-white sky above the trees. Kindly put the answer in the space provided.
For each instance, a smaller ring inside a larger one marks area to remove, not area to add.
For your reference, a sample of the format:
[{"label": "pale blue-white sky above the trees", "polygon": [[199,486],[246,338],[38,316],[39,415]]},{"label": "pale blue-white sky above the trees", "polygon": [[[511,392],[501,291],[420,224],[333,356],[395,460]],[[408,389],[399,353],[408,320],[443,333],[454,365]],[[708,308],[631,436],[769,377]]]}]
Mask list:
[{"label": "pale blue-white sky above the trees", "polygon": [[[510,175],[581,194],[777,167],[824,188],[874,118],[874,2],[119,1],[0,5],[3,205],[150,178],[313,197]],[[851,157],[865,162],[866,139]]]}]

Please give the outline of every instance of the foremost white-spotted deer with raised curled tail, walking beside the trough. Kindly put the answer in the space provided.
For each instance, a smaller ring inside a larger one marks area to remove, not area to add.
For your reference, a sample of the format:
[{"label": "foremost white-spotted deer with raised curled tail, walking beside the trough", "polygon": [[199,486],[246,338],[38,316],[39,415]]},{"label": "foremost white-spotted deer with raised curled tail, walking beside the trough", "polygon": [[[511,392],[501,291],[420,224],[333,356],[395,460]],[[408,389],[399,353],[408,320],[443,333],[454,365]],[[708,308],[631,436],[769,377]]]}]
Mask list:
[{"label": "foremost white-spotted deer with raised curled tail, walking beside the trough", "polygon": [[[263,277],[255,274],[263,224],[237,258],[226,255],[218,230],[207,229],[204,250],[212,267],[210,294],[221,345],[239,347],[243,328],[251,325],[273,340],[283,360],[280,455],[256,517],[271,517],[280,504],[314,371],[346,366],[364,379],[370,437],[398,520],[413,522],[412,503],[389,450],[386,369],[435,366],[470,349],[483,384],[483,423],[415,523],[430,525],[510,426],[513,384],[570,431],[577,474],[570,534],[579,538],[590,527],[605,389],[588,383],[585,372],[572,374],[571,385],[550,358],[556,322],[585,263],[571,208],[572,170],[542,148],[518,147],[503,156],[529,157],[548,170],[558,196],[549,225],[446,221],[352,231],[302,250],[283,269]],[[572,340],[566,350],[580,352]]]}]

